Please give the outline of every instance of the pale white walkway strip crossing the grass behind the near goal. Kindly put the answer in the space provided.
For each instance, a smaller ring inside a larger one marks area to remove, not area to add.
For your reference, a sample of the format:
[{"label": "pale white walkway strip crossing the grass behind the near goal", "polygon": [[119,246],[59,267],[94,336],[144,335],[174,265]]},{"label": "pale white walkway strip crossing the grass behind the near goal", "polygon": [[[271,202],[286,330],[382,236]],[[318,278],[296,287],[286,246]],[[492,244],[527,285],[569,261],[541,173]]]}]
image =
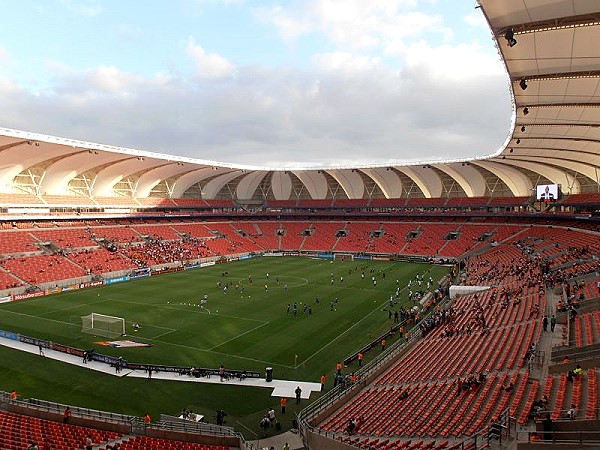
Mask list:
[{"label": "pale white walkway strip crossing the grass behind the near goal", "polygon": [[[13,339],[7,339],[0,337],[0,345],[4,347],[13,348],[27,353],[39,355],[39,348],[35,345],[26,344],[24,342],[15,341]],[[89,361],[83,362],[83,359],[79,356],[69,355],[67,353],[59,352],[56,350],[43,349],[44,358],[53,359],[55,361],[61,361],[65,364],[71,364],[73,366],[79,366],[87,370],[95,370],[96,372],[102,372],[104,374],[112,375],[115,377],[133,377],[133,378],[148,378],[148,373],[143,370],[129,370],[123,369],[120,373],[115,373],[115,369],[110,367],[108,364]],[[42,357],[40,355],[40,357]],[[300,395],[303,399],[309,399],[310,394],[319,392],[321,390],[320,383],[309,383],[307,381],[292,381],[292,380],[277,380],[273,379],[271,382],[267,382],[263,378],[246,378],[239,380],[237,378],[230,378],[227,380],[220,380],[220,377],[192,377],[187,375],[179,375],[174,372],[152,372],[153,380],[165,380],[165,381],[179,381],[188,383],[210,383],[210,384],[229,384],[237,386],[253,386],[266,389],[272,389],[271,395],[273,397],[291,397],[295,398],[296,388],[300,386],[302,394]],[[282,444],[283,445],[283,444]]]}]

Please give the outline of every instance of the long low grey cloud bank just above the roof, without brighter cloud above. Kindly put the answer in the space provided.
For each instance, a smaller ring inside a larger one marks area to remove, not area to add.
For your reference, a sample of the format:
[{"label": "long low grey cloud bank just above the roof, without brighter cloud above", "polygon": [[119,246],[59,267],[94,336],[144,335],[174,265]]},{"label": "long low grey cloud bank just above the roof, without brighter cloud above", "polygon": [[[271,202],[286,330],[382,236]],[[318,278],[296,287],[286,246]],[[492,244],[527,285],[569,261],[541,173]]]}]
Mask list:
[{"label": "long low grey cloud bank just above the roof, without brighter cloud above", "polygon": [[[436,57],[446,51],[421,50]],[[311,71],[240,67],[226,82],[143,78],[111,66],[62,68],[37,95],[0,80],[0,123],[256,165],[391,163],[495,151],[510,122],[503,74],[430,76],[430,66],[410,60],[398,73],[375,58],[332,53],[316,57]]]}]

